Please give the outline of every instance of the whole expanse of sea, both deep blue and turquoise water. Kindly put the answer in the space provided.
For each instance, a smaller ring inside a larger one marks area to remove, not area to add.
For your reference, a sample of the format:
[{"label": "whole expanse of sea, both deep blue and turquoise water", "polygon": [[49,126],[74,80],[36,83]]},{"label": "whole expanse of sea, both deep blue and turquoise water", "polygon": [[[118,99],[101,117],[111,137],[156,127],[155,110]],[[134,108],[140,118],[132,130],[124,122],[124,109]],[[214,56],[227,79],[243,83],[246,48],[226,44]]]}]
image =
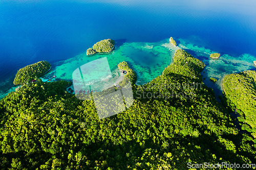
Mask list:
[{"label": "whole expanse of sea, both deep blue and turquoise water", "polygon": [[[255,69],[255,1],[0,1],[0,98],[15,90],[19,68],[41,60],[52,64],[48,79],[72,80],[80,65],[108,57],[112,70],[128,61],[143,84],[161,75],[178,46],[203,60],[207,86],[221,93],[226,74]],[[86,56],[102,39],[114,39],[111,54]],[[220,53],[210,60],[210,53]],[[217,84],[208,80],[218,79]]]}]

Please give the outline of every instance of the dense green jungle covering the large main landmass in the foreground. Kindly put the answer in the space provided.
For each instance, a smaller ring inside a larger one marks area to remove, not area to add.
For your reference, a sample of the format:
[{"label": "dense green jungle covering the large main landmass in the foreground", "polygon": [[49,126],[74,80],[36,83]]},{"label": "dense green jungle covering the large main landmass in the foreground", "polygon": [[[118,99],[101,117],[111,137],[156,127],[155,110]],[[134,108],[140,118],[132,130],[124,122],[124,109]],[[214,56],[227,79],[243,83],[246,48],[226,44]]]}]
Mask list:
[{"label": "dense green jungle covering the large main landmass in the foreground", "polygon": [[93,101],[65,91],[69,82],[25,84],[0,101],[0,166],[187,169],[188,162],[255,163],[252,138],[239,133],[202,83],[204,66],[177,50],[162,75],[133,84],[130,108],[104,119]]}]

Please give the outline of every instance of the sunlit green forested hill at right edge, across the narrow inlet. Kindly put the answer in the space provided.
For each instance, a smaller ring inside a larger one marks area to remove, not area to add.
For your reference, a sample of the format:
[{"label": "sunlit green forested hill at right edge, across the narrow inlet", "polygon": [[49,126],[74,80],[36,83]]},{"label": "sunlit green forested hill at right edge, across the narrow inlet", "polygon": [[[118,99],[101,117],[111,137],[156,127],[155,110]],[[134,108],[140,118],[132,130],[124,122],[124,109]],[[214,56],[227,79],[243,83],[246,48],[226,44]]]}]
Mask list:
[{"label": "sunlit green forested hill at right edge, across the narrow inlet", "polygon": [[243,71],[226,75],[223,80],[225,98],[231,107],[240,110],[238,120],[243,122],[242,129],[251,132],[256,138],[256,71]]}]

